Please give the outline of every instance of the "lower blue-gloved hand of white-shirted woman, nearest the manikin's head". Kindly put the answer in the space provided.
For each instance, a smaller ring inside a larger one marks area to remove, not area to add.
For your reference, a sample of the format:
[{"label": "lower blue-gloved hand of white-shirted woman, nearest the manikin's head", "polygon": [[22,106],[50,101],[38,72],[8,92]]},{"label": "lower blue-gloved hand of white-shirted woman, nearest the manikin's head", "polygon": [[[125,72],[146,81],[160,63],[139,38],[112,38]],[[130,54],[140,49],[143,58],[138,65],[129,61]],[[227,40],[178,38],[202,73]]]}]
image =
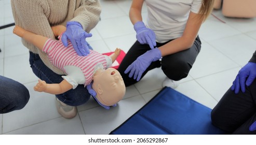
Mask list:
[{"label": "lower blue-gloved hand of white-shirted woman, nearest the manikin's head", "polygon": [[129,65],[125,70],[125,74],[130,71],[129,77],[131,78],[134,75],[133,79],[135,80],[137,78],[137,81],[139,81],[146,68],[149,67],[152,62],[159,59],[161,59],[161,51],[158,48],[151,49],[139,56]]}]

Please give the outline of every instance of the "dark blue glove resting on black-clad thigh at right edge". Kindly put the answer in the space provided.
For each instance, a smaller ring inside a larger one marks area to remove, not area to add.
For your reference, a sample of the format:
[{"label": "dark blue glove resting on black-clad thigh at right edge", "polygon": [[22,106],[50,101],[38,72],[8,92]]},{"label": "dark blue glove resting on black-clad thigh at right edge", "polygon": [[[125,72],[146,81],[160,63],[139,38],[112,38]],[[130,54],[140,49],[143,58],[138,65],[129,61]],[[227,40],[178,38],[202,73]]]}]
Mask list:
[{"label": "dark blue glove resting on black-clad thigh at right edge", "polygon": [[242,67],[236,79],[233,81],[231,86],[231,90],[237,94],[240,89],[244,93],[245,92],[245,85],[249,86],[256,78],[256,63],[249,62],[244,67]]}]

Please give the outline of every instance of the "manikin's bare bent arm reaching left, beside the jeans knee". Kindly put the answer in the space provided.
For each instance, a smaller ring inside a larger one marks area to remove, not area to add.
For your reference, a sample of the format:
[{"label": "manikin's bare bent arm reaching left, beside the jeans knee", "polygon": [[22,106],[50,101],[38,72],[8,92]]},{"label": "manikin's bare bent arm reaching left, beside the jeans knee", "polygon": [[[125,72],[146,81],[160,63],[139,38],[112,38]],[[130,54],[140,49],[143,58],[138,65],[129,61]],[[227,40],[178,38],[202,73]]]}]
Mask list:
[{"label": "manikin's bare bent arm reaching left, beside the jeans knee", "polygon": [[69,91],[73,88],[73,86],[66,80],[63,80],[60,83],[46,83],[45,81],[38,80],[36,86],[34,86],[34,90],[38,92],[46,92],[50,94],[62,94],[66,91]]}]

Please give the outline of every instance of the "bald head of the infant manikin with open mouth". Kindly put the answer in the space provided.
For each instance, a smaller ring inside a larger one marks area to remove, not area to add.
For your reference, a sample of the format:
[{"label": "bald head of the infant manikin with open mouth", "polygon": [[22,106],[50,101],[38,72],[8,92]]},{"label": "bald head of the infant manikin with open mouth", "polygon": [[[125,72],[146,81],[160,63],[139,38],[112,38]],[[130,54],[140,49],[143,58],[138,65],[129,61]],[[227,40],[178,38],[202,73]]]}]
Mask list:
[{"label": "bald head of the infant manikin with open mouth", "polygon": [[105,106],[113,106],[125,95],[125,83],[119,71],[114,68],[97,70],[93,76],[92,89],[96,98]]}]

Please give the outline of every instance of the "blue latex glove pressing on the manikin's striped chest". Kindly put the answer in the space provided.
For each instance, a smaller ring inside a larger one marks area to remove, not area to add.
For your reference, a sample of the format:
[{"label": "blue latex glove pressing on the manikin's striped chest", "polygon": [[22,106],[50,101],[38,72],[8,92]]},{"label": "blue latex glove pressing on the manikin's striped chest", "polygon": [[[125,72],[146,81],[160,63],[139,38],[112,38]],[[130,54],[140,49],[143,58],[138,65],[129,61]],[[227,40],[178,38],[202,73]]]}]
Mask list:
[{"label": "blue latex glove pressing on the manikin's striped chest", "polygon": [[61,41],[63,45],[67,47],[68,39],[70,39],[76,53],[80,56],[86,56],[90,53],[90,51],[85,38],[91,36],[91,33],[87,33],[83,30],[80,23],[71,21],[66,23],[66,31],[62,35]]}]

